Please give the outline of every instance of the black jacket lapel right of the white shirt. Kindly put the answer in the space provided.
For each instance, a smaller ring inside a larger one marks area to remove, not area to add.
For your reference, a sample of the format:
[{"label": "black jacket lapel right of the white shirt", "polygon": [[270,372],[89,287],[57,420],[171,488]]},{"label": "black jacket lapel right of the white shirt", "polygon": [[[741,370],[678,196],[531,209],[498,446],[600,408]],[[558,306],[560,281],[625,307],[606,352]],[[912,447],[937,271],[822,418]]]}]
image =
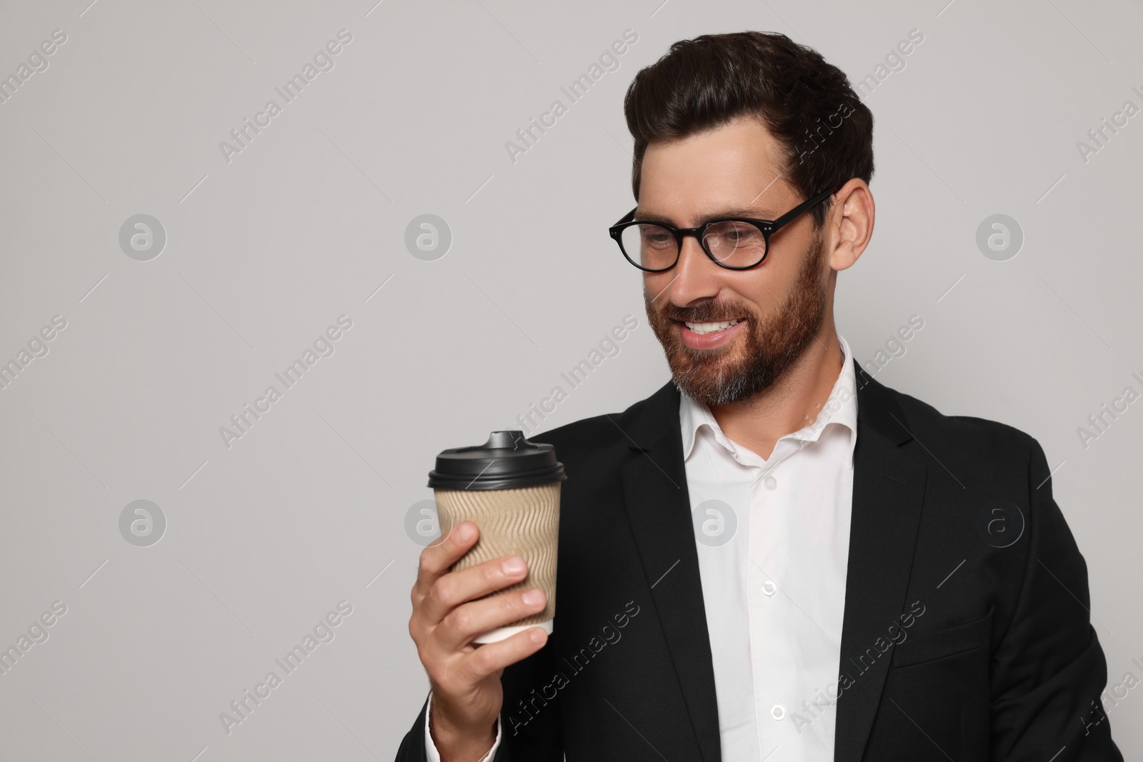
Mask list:
[{"label": "black jacket lapel right of the white shirt", "polygon": [[[849,528],[836,762],[858,762],[889,672],[888,628],[900,624],[925,496],[926,467],[901,446],[912,439],[895,392],[857,372],[857,444]],[[886,647],[887,648],[887,647]],[[872,649],[876,659],[860,657]],[[872,660],[872,666],[869,663]]]}]

